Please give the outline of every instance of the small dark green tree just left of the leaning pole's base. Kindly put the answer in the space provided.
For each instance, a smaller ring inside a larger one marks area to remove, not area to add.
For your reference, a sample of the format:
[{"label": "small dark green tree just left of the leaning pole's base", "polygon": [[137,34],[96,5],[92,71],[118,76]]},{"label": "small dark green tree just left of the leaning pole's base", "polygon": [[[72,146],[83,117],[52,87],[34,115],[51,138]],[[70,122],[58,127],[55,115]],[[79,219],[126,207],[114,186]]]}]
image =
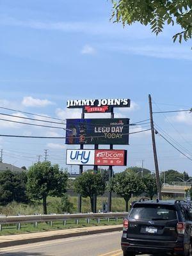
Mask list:
[{"label": "small dark green tree just left of the leaning pole's base", "polygon": [[154,195],[157,195],[157,182],[154,175],[146,175],[143,177],[143,183],[145,184],[145,192],[150,200],[153,199]]}]

